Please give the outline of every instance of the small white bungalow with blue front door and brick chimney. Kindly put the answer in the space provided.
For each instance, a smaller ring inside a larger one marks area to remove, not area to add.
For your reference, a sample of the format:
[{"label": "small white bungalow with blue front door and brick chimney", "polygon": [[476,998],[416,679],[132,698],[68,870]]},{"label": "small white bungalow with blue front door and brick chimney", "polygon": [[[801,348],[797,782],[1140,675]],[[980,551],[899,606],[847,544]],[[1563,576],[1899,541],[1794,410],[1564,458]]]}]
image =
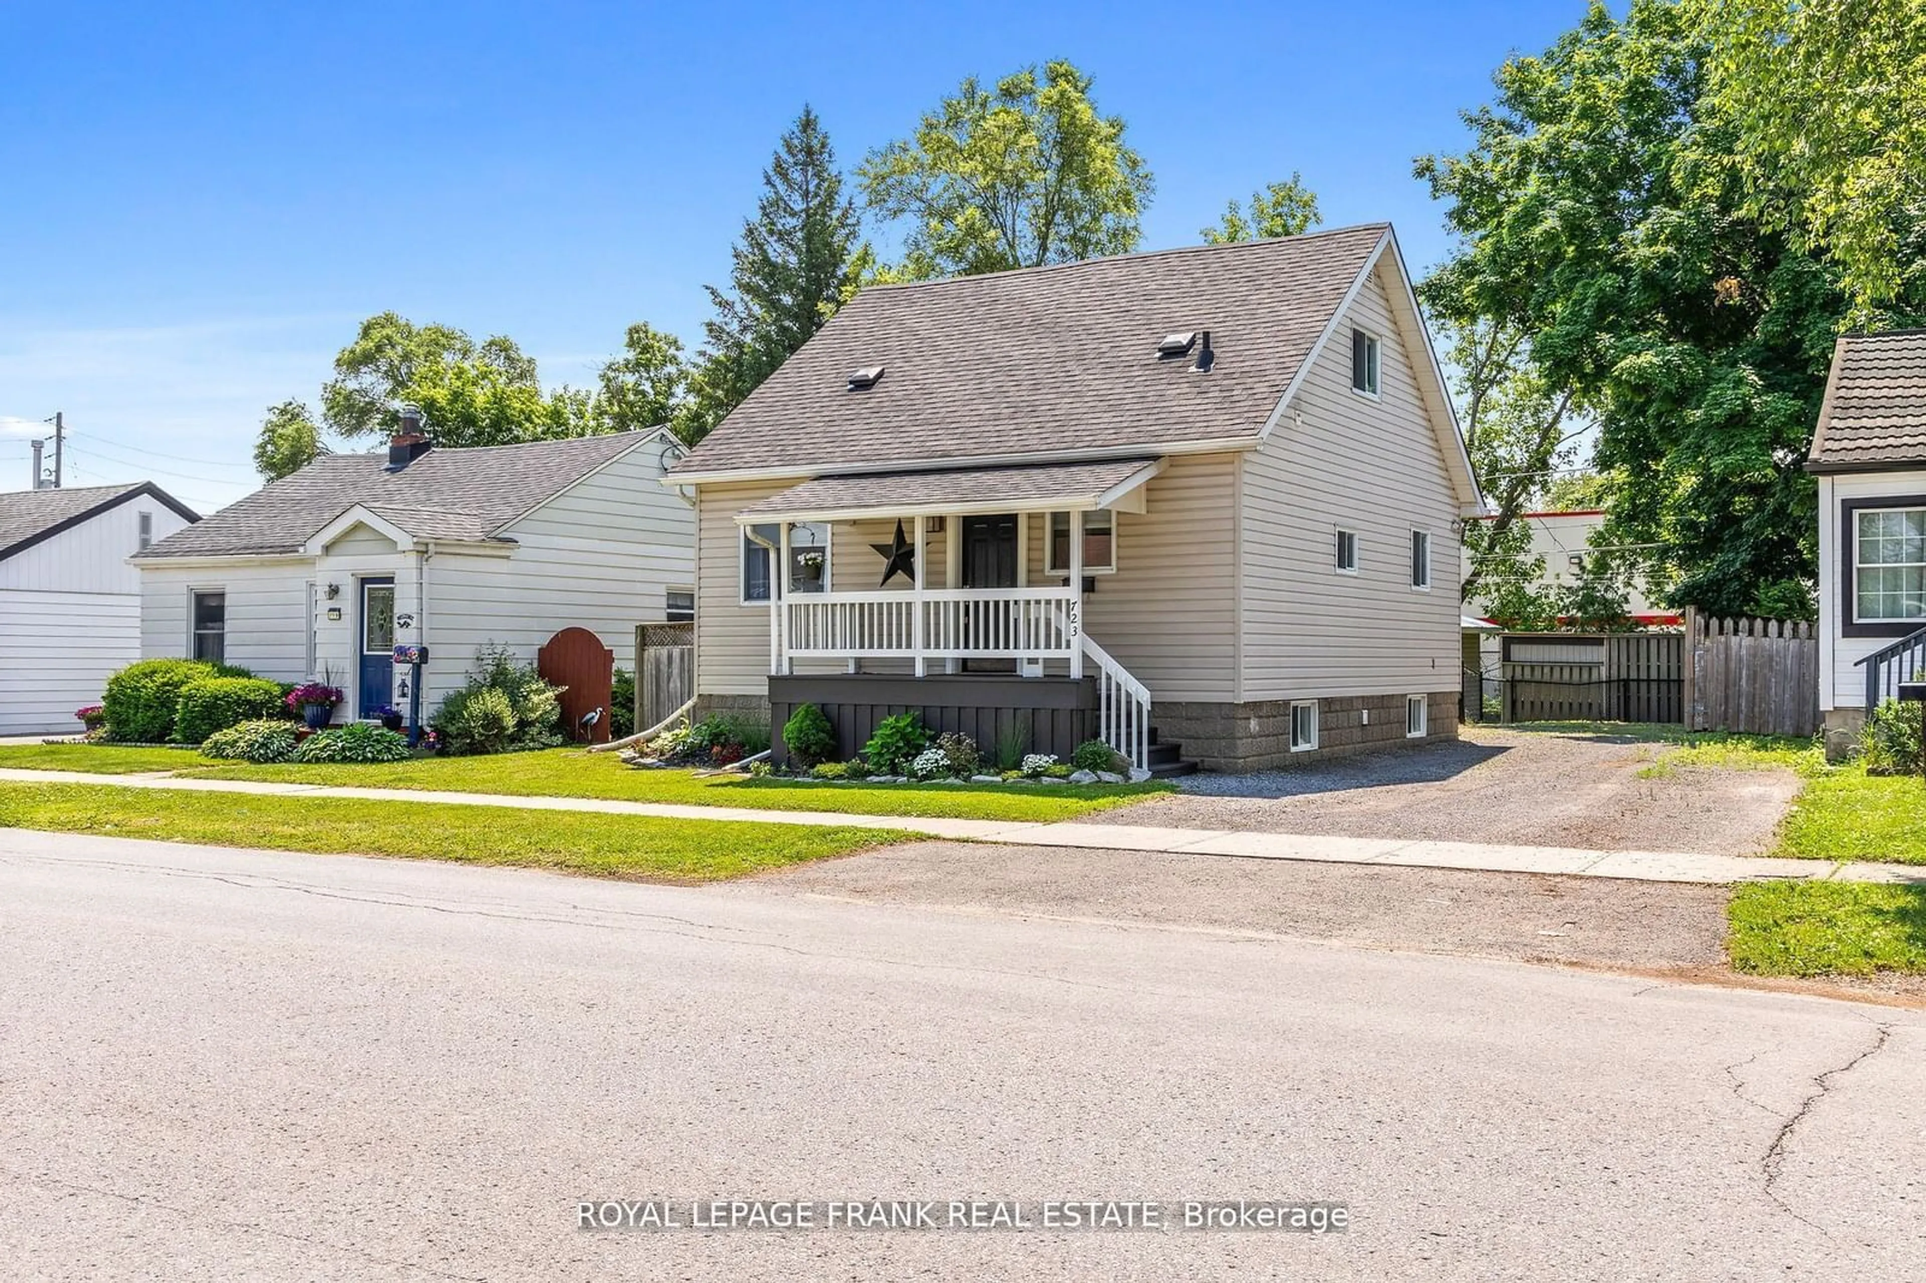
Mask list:
[{"label": "small white bungalow with blue front door and brick chimney", "polygon": [[659,484],[682,451],[666,430],[437,449],[418,426],[135,557],[141,653],[325,680],[354,720],[410,707],[393,651],[422,645],[426,720],[482,645],[532,663],[586,628],[628,667],[638,624],[690,618],[695,520]]}]

